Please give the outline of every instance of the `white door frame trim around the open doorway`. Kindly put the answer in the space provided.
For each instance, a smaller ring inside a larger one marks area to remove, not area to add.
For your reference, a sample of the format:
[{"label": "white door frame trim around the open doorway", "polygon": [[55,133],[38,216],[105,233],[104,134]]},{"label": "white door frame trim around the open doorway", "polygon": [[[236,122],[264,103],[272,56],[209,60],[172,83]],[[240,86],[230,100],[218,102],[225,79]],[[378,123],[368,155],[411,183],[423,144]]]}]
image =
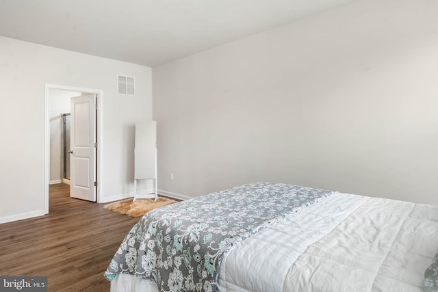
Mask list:
[{"label": "white door frame trim around the open doorway", "polygon": [[101,201],[101,183],[103,181],[103,90],[90,88],[77,88],[73,86],[44,84],[44,214],[49,213],[49,182],[50,182],[50,116],[49,116],[49,94],[50,90],[74,91],[87,94],[96,94],[97,101],[97,187],[96,202]]}]

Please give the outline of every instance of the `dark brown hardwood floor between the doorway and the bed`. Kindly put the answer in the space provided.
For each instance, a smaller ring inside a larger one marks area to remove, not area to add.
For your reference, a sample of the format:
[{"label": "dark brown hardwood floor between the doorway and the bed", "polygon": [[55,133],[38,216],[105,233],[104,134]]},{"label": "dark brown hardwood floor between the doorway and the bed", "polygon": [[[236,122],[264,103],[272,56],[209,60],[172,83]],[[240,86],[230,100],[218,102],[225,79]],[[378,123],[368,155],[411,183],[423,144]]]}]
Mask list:
[{"label": "dark brown hardwood floor between the doorway and the bed", "polygon": [[49,291],[110,291],[103,277],[139,218],[50,186],[49,215],[0,224],[0,276],[47,276]]}]

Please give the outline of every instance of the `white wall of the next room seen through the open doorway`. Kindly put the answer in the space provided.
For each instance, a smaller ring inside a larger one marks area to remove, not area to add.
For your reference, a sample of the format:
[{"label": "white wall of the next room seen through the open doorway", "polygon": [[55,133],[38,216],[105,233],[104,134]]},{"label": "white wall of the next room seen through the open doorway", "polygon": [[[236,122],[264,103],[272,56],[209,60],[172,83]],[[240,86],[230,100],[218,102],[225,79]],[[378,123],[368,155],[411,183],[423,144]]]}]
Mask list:
[{"label": "white wall of the next room seen through the open doorway", "polygon": [[62,160],[62,114],[70,113],[70,98],[80,96],[81,92],[50,90],[50,183],[61,183],[64,173]]}]

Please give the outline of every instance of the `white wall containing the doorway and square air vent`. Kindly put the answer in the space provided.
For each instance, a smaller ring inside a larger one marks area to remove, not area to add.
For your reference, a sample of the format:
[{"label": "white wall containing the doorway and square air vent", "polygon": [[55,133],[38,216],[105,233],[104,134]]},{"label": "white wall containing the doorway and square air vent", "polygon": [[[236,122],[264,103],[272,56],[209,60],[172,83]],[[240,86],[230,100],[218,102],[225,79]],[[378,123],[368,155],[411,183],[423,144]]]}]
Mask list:
[{"label": "white wall containing the doorway and square air vent", "polygon": [[[136,96],[116,75],[136,77]],[[44,83],[103,90],[102,201],[133,192],[134,126],[151,120],[151,68],[0,37],[0,223],[44,210]]]}]

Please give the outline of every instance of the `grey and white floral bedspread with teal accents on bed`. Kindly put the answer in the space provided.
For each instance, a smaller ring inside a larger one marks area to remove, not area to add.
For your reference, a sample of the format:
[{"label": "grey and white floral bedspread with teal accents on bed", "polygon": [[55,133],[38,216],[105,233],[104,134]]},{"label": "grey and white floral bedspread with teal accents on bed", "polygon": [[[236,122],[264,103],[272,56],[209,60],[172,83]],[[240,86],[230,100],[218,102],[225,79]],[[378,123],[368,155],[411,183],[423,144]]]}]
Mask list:
[{"label": "grey and white floral bedspread with teal accents on bed", "polygon": [[133,226],[105,277],[124,273],[159,291],[216,291],[222,256],[244,239],[331,191],[250,183],[155,209]]}]

